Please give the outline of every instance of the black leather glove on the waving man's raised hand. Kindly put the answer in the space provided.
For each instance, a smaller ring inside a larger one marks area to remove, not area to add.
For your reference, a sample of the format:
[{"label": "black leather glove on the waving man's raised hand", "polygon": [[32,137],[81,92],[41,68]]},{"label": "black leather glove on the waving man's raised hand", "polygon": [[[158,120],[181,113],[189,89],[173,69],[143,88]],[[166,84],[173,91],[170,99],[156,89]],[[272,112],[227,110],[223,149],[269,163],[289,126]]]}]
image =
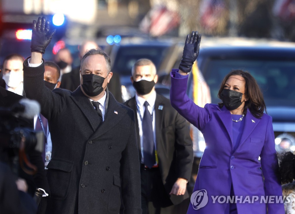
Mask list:
[{"label": "black leather glove on the waving man's raised hand", "polygon": [[33,20],[31,52],[45,53],[45,48],[50,43],[56,29],[50,31],[50,20],[43,16],[38,21]]}]

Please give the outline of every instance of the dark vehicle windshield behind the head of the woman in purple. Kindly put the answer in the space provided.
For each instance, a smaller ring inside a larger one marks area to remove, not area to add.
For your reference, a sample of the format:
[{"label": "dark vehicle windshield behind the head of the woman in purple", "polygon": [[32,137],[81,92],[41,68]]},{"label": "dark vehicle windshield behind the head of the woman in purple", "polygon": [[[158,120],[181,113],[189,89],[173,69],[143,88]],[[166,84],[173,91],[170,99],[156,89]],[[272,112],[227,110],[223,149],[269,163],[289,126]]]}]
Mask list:
[{"label": "dark vehicle windshield behind the head of the woman in purple", "polygon": [[[295,105],[295,62],[212,59],[202,71],[210,87],[212,103],[217,97],[222,79],[232,69],[247,70],[256,79],[262,89],[266,106]],[[205,72],[204,72],[205,71]]]}]

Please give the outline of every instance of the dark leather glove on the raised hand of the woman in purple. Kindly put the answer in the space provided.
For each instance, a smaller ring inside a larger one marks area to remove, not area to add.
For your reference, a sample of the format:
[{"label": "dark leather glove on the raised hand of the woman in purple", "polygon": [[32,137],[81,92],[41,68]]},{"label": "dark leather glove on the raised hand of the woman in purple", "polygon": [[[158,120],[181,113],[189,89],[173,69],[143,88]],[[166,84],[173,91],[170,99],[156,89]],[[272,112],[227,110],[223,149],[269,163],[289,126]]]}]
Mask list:
[{"label": "dark leather glove on the raised hand of the woman in purple", "polygon": [[198,31],[192,31],[191,35],[186,36],[182,59],[179,64],[179,70],[189,73],[193,67],[194,62],[196,61],[199,55],[201,42],[201,34],[198,35]]}]

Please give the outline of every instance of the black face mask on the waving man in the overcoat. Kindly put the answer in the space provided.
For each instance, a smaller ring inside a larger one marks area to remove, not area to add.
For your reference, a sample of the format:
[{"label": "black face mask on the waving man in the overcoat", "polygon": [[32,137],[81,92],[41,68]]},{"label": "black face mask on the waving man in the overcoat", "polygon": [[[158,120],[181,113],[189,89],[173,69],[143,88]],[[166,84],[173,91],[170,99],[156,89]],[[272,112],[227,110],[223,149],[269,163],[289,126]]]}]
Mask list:
[{"label": "black face mask on the waving man in the overcoat", "polygon": [[[108,75],[106,75],[106,77]],[[82,84],[83,91],[89,97],[95,97],[99,95],[105,89],[105,87],[104,88],[102,87],[102,84],[104,83],[104,80],[106,78],[103,78],[96,74],[83,74],[82,77],[83,77],[83,84]]]}]

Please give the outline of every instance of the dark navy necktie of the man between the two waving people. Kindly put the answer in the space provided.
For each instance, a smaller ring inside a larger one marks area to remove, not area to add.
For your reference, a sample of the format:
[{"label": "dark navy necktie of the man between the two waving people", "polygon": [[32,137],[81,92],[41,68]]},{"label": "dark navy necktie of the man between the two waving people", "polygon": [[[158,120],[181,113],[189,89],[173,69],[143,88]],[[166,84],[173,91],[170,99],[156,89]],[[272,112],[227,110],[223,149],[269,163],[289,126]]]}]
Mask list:
[{"label": "dark navy necktie of the man between the two waving people", "polygon": [[154,135],[153,135],[153,120],[152,115],[148,110],[149,103],[145,101],[145,112],[142,118],[142,144],[143,144],[143,163],[152,168],[156,162]]}]

